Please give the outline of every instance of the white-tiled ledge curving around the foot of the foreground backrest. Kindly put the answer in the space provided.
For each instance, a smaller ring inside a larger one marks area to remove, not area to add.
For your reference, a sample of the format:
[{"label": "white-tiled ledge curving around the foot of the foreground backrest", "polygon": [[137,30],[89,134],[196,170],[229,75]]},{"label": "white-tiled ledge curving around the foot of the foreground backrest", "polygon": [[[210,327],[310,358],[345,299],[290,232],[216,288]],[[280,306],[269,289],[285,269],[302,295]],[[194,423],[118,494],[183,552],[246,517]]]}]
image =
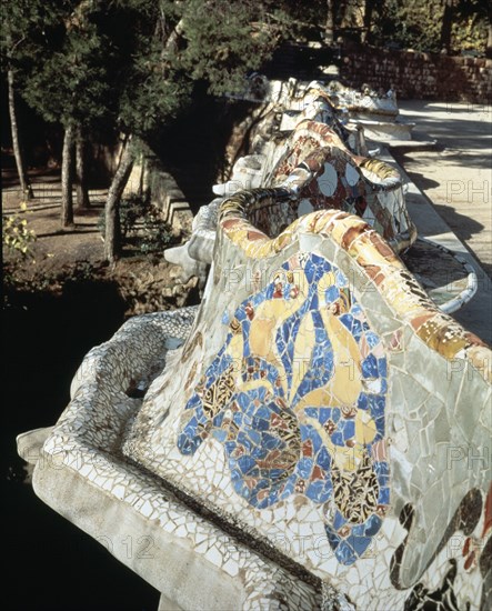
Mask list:
[{"label": "white-tiled ledge curving around the foot of the foreground backrest", "polygon": [[[88,353],[57,424],[18,438],[21,457],[34,464],[34,491],[172,599],[173,609],[319,609],[312,580],[292,579],[122,455],[137,395],[172,367],[197,311],[134,317]],[[203,581],[207,589],[198,589]]]}]

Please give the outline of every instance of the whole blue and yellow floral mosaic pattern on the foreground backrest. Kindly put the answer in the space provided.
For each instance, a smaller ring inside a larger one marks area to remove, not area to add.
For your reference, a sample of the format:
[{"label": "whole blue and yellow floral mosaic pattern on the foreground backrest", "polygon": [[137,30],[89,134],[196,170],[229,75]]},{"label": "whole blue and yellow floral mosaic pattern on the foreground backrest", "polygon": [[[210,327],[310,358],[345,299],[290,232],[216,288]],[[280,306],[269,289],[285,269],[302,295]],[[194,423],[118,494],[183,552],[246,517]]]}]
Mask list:
[{"label": "whole blue and yellow floral mosaic pattern on the foreground backrest", "polygon": [[244,300],[183,414],[178,447],[212,435],[234,490],[264,509],[298,493],[323,504],[339,562],[352,564],[386,512],[386,359],[347,277],[298,253]]}]

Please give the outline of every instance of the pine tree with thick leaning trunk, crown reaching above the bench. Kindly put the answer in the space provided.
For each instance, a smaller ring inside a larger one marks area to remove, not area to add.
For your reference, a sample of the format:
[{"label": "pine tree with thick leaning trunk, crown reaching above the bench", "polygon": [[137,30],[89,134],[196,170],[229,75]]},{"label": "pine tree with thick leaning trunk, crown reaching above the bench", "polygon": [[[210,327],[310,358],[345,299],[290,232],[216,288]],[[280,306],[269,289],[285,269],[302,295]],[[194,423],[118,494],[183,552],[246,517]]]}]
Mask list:
[{"label": "pine tree with thick leaning trunk, crown reaching above the bench", "polygon": [[118,257],[120,239],[113,232],[119,227],[119,198],[140,142],[187,109],[198,89],[220,96],[243,88],[245,73],[260,68],[273,51],[283,23],[272,6],[245,0],[128,0],[120,8],[134,11],[132,56],[118,110],[120,130],[132,138],[108,196],[109,261]]}]

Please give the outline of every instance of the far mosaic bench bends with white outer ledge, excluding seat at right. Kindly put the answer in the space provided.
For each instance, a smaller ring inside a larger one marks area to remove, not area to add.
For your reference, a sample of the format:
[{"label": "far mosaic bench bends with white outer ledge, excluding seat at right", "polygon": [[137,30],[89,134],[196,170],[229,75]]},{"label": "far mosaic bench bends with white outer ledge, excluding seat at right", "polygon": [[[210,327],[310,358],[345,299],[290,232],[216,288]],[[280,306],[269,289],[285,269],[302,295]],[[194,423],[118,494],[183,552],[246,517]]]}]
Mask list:
[{"label": "far mosaic bench bends with white outer ledge, excluding seat at right", "polygon": [[[280,207],[263,206],[252,219],[269,236],[310,211],[341,209],[363,218],[396,252],[406,250],[416,239],[416,229],[406,210],[398,170],[364,157],[363,131],[345,129],[321,83],[295,83],[288,89],[277,96],[278,106],[272,103],[271,111],[264,113],[268,124],[257,126],[259,132],[270,134],[268,139],[253,142],[253,154],[235,162],[231,179],[214,186],[215,194],[285,187],[294,197]],[[282,120],[273,137],[270,122],[277,114]],[[203,266],[212,260],[215,240],[218,200],[209,207],[202,207],[195,217],[190,241],[164,253],[168,261],[182,267],[182,281],[194,274],[204,283]]]}]

